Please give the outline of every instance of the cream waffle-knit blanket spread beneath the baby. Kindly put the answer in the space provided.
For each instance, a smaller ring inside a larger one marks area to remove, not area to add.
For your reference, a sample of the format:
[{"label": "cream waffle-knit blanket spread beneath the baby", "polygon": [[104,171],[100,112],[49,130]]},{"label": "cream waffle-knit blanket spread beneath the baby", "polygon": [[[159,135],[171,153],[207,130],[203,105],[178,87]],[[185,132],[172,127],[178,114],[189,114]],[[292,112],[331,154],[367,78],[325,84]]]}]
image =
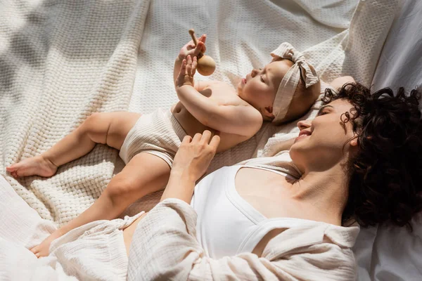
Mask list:
[{"label": "cream waffle-knit blanket spread beneath the baby", "polygon": [[[189,28],[207,33],[217,62],[215,74],[197,79],[236,84],[288,41],[324,81],[348,74],[369,86],[397,1],[1,1],[1,174],[42,218],[66,223],[122,169],[116,150],[96,145],[51,178],[16,181],[5,166],[48,150],[93,112],[170,107],[174,58]],[[271,155],[293,126],[264,126],[217,155],[210,171]],[[134,206],[149,209],[159,195]]]}]

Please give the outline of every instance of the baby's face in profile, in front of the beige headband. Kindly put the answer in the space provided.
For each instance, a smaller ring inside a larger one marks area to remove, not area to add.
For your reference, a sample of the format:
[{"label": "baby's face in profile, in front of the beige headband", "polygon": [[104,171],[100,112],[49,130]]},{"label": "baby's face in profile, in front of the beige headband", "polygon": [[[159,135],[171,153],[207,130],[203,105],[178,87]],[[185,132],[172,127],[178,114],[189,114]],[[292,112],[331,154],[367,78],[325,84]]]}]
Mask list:
[{"label": "baby's face in profile, in front of the beige headband", "polygon": [[258,110],[272,107],[281,80],[292,65],[290,60],[275,60],[252,70],[238,84],[239,97]]}]

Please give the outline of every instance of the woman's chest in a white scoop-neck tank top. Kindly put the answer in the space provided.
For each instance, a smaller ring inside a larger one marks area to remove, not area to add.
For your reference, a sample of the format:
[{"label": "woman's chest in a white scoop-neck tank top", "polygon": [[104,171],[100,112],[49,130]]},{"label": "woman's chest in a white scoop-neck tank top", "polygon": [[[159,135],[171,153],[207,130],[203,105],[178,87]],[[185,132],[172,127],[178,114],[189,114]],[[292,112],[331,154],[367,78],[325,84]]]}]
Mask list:
[{"label": "woman's chest in a white scoop-neck tank top", "polygon": [[283,229],[284,217],[298,210],[286,200],[287,193],[277,191],[273,184],[284,176],[271,178],[274,173],[254,171],[260,170],[224,167],[196,185],[191,203],[198,215],[196,235],[208,256],[221,258],[241,252],[260,255],[267,242]]}]

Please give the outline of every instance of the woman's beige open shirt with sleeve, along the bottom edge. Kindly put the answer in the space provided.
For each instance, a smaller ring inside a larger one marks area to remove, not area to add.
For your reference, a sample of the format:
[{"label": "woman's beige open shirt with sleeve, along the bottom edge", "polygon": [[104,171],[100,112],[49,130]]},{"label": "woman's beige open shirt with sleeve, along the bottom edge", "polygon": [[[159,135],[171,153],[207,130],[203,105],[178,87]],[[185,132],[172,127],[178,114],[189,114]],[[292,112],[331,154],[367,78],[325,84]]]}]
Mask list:
[{"label": "woman's beige open shirt with sleeve, along the bottom edge", "polygon": [[136,228],[128,280],[354,280],[352,246],[359,227],[286,219],[262,257],[251,253],[211,259],[196,240],[194,209],[163,200]]}]

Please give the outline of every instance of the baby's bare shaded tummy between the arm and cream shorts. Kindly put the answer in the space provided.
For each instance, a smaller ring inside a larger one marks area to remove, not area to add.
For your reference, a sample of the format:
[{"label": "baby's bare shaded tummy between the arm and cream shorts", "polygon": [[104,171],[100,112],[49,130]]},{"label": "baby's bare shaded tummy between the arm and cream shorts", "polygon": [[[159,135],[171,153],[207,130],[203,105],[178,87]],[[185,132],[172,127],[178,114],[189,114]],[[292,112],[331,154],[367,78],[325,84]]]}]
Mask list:
[{"label": "baby's bare shaded tummy between the arm and cream shorts", "polygon": [[[182,105],[180,102],[172,106],[172,113],[174,118],[177,119],[180,126],[184,129],[188,136],[195,136],[196,133],[203,133],[205,130],[209,130],[212,133],[215,133],[215,130],[205,126],[201,122],[199,122],[193,115],[191,115],[186,107]],[[238,143],[246,141],[246,138],[243,136],[238,136],[232,133],[219,133],[220,136],[220,144],[217,149],[217,152],[222,152],[224,150],[228,150],[229,148],[233,148]]]}]

